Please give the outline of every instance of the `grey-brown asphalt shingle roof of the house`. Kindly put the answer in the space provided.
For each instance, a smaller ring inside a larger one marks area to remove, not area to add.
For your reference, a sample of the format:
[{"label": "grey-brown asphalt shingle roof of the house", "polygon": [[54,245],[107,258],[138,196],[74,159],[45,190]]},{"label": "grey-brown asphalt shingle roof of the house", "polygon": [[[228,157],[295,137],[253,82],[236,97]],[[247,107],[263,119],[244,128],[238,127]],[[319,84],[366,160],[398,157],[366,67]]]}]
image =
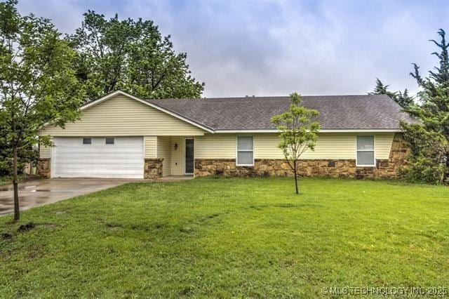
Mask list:
[{"label": "grey-brown asphalt shingle roof of the house", "polygon": [[[288,96],[147,101],[213,130],[272,129],[270,118],[290,105]],[[387,95],[312,95],[302,103],[320,112],[321,129],[398,129],[399,121],[417,122]]]}]

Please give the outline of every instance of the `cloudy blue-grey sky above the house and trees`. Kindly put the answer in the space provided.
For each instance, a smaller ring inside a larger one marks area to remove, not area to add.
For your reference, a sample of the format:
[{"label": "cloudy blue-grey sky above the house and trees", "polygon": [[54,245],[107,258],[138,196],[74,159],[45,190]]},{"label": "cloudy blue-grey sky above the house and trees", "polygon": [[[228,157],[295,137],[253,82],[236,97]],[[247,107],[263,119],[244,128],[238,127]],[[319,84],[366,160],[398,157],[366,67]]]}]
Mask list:
[{"label": "cloudy blue-grey sky above the house and trees", "polygon": [[47,1],[22,0],[21,13],[51,18],[64,33],[88,9],[143,18],[187,52],[204,96],[363,94],[375,78],[417,87],[412,62],[436,65],[428,41],[443,28],[445,1]]}]

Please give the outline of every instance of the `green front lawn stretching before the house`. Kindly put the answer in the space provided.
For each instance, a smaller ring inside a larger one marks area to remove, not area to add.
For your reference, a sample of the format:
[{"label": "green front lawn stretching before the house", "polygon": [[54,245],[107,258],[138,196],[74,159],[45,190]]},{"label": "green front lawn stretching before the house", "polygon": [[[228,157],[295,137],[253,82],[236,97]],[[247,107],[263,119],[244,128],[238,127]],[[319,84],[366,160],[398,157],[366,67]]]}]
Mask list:
[{"label": "green front lawn stretching before the house", "polygon": [[0,218],[0,297],[321,295],[448,288],[449,189],[199,178],[130,183]]}]

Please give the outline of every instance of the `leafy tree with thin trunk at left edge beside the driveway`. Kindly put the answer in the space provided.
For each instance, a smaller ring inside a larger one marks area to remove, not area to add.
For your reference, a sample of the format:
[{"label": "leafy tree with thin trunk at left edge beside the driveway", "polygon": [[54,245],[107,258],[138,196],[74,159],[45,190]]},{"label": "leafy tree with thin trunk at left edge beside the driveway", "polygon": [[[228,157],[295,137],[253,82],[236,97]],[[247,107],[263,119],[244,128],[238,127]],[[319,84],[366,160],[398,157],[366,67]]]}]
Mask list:
[{"label": "leafy tree with thin trunk at left edge beside the driveway", "polygon": [[[16,0],[0,3],[0,139],[13,161],[14,220],[19,220],[20,153],[38,142],[44,124],[74,121],[82,95],[67,41],[50,20],[24,17],[16,5]],[[41,143],[51,145],[49,138]]]}]

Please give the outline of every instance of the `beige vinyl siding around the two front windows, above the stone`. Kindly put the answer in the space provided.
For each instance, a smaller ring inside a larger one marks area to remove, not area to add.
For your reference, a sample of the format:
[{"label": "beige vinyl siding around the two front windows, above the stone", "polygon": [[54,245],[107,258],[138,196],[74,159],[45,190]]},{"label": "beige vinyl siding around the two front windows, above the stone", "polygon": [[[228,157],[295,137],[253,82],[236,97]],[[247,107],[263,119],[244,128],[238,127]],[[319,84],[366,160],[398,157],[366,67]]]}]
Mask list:
[{"label": "beige vinyl siding around the two front windows, above the stone", "polygon": [[[283,159],[277,145],[279,135],[257,133],[254,137],[255,159]],[[356,133],[321,133],[315,151],[307,150],[302,159],[356,159]],[[362,134],[361,134],[362,135]],[[373,133],[375,135],[376,159],[388,159],[394,133]],[[206,134],[195,138],[195,158],[235,159],[236,135]]]}]

